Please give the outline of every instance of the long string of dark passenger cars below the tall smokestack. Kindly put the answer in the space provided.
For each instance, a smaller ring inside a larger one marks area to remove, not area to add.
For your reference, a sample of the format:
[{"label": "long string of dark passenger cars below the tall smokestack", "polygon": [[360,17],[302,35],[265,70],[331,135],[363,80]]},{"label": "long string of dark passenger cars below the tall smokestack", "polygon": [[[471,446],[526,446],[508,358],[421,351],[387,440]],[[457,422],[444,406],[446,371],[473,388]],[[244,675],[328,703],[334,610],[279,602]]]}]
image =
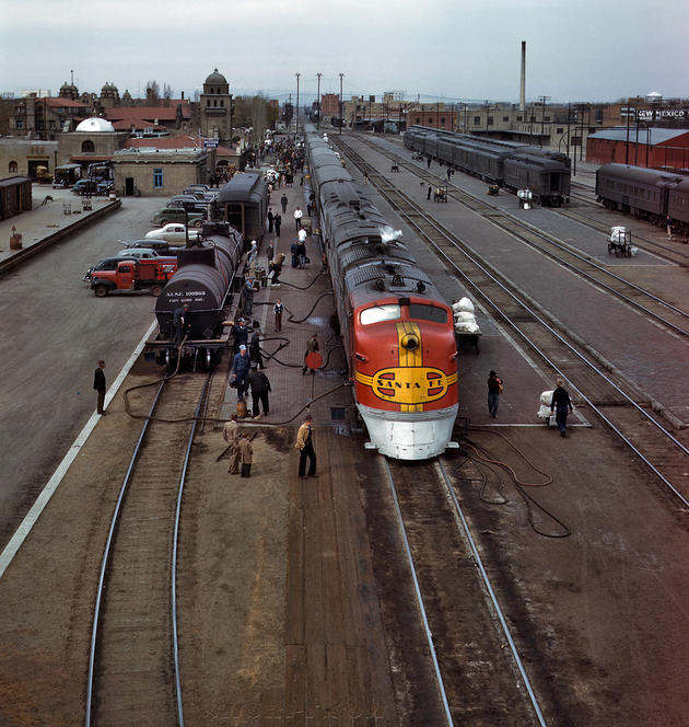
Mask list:
[{"label": "long string of dark passenger cars below the tall smokestack", "polygon": [[412,126],[405,146],[511,192],[528,188],[542,205],[569,201],[571,172],[560,152]]}]

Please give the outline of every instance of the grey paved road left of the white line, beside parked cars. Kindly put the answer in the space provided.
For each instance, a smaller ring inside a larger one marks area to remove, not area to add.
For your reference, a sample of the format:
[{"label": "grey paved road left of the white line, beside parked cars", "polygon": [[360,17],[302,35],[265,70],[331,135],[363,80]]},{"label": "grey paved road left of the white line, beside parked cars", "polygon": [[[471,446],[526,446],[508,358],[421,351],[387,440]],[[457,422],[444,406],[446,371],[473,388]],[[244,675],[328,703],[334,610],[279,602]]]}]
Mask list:
[{"label": "grey paved road left of the white line, beside parked cars", "polygon": [[93,371],[112,382],[152,322],[148,292],[97,299],[84,272],[143,236],[160,199],[120,211],[20,266],[0,281],[0,547],[95,407]]}]

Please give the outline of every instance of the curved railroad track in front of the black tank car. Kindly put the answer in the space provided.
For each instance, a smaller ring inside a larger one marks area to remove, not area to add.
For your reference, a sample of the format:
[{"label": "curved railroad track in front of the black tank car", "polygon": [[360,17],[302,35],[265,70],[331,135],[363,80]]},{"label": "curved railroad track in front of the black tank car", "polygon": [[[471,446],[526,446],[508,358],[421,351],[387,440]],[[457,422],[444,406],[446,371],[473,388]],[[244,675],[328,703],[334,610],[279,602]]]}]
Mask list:
[{"label": "curved railroad track in front of the black tank car", "polygon": [[[184,725],[177,533],[195,417],[209,382],[210,376],[180,374],[161,384],[125,476],[94,609],[87,727]],[[188,418],[175,422],[180,417]]]}]

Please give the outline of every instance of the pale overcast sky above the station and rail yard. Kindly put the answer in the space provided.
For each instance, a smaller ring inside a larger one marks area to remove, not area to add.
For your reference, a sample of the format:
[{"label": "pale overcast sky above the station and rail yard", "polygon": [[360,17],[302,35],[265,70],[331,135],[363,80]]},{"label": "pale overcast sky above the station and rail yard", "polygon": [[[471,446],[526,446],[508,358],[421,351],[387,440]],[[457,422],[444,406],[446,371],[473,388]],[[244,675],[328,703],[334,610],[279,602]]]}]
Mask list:
[{"label": "pale overcast sky above the station and rail yard", "polygon": [[0,92],[70,80],[192,96],[218,68],[231,92],[284,101],[404,91],[422,101],[689,97],[689,1],[0,0]]}]

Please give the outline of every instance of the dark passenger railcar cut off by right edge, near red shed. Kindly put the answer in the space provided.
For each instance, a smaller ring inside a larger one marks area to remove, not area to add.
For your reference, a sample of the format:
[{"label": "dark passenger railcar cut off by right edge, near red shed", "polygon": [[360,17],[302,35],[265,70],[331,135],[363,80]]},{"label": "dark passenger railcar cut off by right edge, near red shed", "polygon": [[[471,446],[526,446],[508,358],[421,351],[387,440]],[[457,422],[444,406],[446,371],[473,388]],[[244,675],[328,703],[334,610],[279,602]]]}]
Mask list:
[{"label": "dark passenger railcar cut off by right edge, near red shed", "polygon": [[680,174],[629,164],[604,164],[596,172],[596,195],[608,209],[689,233],[689,180]]}]

